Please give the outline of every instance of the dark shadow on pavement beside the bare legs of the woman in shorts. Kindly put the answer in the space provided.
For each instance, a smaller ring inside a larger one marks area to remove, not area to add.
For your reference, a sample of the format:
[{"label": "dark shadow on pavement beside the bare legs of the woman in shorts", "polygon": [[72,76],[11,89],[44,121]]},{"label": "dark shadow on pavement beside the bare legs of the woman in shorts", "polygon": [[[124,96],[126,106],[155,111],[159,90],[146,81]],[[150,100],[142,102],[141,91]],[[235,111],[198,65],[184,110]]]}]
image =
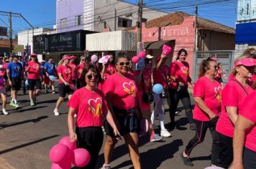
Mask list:
[{"label": "dark shadow on pavement beside the bare legs of the woman in shorts", "polygon": [[[140,153],[142,168],[158,168],[163,161],[173,158],[173,155],[178,152],[181,145],[183,145],[183,141],[177,139],[173,140],[170,144],[162,145],[155,149],[147,150],[147,152]],[[114,168],[124,168],[127,165],[132,165],[132,161],[124,161],[121,164],[116,165]]]}]

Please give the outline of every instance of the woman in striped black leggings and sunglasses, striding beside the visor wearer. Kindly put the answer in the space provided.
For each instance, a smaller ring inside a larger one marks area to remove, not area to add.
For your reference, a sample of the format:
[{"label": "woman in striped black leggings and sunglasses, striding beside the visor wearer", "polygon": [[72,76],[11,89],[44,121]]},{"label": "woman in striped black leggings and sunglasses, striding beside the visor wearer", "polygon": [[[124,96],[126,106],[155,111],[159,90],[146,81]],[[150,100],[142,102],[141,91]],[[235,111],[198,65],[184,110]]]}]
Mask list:
[{"label": "woman in striped black leggings and sunglasses, striding beside the visor wearer", "polygon": [[198,81],[193,88],[196,102],[193,110],[193,120],[196,124],[196,135],[188,142],[186,150],[180,154],[185,165],[192,166],[189,158],[191,151],[199,143],[204,141],[206,131],[209,128],[212,137],[211,165],[218,165],[220,141],[215,127],[221,112],[221,84],[215,80],[218,71],[216,61],[211,58],[204,59],[198,70]]}]

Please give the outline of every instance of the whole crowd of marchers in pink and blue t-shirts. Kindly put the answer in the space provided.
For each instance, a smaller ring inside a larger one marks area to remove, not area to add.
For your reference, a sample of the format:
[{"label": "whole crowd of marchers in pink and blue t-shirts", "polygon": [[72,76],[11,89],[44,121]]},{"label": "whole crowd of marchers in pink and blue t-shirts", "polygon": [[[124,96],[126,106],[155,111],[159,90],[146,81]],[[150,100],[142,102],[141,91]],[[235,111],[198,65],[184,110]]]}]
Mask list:
[{"label": "whole crowd of marchers in pink and blue t-shirts", "polygon": [[[18,109],[17,92],[22,82],[27,82],[30,105],[35,106],[42,86],[48,92],[50,84],[52,94],[55,94],[55,78],[58,78],[59,97],[53,113],[60,115],[59,108],[68,95],[70,141],[77,142],[78,148],[86,148],[91,154],[91,160],[84,168],[96,166],[103,145],[104,127],[106,141],[102,168],[111,168],[114,146],[123,137],[132,164],[139,169],[139,136],[145,134],[142,133],[142,125],[148,122],[151,142],[170,137],[170,130],[176,126],[178,102],[181,101],[190,130],[195,130],[195,136],[188,140],[186,149],[180,154],[185,165],[193,165],[191,151],[204,141],[209,128],[212,137],[211,165],[256,168],[256,115],[253,113],[256,102],[255,56],[255,49],[247,49],[235,59],[234,70],[224,86],[222,78],[227,78],[226,72],[215,57],[201,62],[198,80],[193,82],[189,75],[191,68],[186,62],[186,49],[180,49],[170,65],[166,64],[168,57],[165,54],[158,57],[147,54],[143,69],[133,69],[125,54],[116,57],[110,54],[107,62],[91,62],[90,57],[64,55],[58,65],[51,57],[47,62],[37,59],[37,54],[31,54],[28,62],[16,55],[3,62],[1,55],[2,112],[8,115],[6,90],[9,88],[12,97],[10,105]],[[80,63],[76,64],[78,59]],[[154,84],[161,84],[163,92],[152,92]],[[193,111],[189,85],[193,88],[196,102]],[[169,128],[165,127],[165,100],[170,108]],[[155,117],[160,121],[159,134],[155,133]]]}]

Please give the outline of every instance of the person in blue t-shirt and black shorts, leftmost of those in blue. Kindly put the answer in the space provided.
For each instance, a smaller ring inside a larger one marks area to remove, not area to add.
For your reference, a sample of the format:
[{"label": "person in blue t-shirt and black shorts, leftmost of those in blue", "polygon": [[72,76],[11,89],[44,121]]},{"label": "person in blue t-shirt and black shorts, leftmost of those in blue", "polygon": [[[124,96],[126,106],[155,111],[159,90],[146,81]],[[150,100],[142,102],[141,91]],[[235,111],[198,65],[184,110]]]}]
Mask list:
[{"label": "person in blue t-shirt and black shorts, leftmost of those in blue", "polygon": [[18,61],[19,56],[14,55],[13,61],[9,62],[6,70],[8,82],[11,86],[12,91],[12,100],[10,102],[10,105],[14,106],[15,108],[19,108],[19,103],[17,102],[17,92],[20,90],[20,87],[22,86],[22,79],[24,79],[22,64]]}]

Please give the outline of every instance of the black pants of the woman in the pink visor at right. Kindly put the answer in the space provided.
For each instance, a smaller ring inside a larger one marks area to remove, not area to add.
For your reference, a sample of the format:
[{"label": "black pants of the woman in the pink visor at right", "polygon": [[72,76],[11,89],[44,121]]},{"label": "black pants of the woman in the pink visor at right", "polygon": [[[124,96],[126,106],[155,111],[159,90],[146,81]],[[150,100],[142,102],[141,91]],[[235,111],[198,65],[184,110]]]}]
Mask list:
[{"label": "black pants of the woman in the pink visor at right", "polygon": [[229,168],[233,161],[233,137],[222,135],[218,132],[221,140],[221,150],[219,151],[219,167]]}]

